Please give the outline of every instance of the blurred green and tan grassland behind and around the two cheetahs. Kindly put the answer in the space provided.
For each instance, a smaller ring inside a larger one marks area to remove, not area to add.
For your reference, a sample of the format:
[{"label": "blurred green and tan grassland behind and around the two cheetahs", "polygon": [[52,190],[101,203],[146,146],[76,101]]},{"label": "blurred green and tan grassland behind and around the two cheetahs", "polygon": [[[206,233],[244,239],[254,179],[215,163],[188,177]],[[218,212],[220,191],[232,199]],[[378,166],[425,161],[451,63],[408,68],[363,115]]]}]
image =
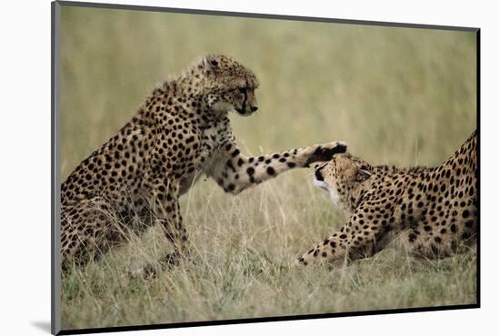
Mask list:
[{"label": "blurred green and tan grassland behind and around the two cheetahs", "polygon": [[[344,140],[370,163],[437,165],[475,129],[475,33],[65,7],[62,180],[157,84],[207,53],[260,80],[259,113],[232,115],[245,154]],[[168,250],[153,230],[63,279],[65,329],[475,303],[475,252],[388,249],[343,268],[290,262],[345,215],[284,173],[234,197],[200,181],[181,205],[193,262],[151,280],[125,269]]]}]

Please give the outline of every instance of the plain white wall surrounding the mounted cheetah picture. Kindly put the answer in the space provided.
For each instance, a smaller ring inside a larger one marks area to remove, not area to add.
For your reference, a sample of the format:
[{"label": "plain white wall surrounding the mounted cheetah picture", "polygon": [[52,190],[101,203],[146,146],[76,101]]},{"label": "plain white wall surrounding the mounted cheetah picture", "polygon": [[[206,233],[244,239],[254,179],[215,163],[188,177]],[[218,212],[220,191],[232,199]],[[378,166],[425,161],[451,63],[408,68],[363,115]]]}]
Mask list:
[{"label": "plain white wall surrounding the mounted cheetah picture", "polygon": [[[101,2],[109,2],[102,0]],[[226,325],[127,335],[447,335],[498,332],[500,223],[496,156],[500,34],[494,1],[116,0],[128,5],[305,15],[482,28],[482,308]],[[47,334],[50,321],[50,2],[5,1],[0,20],[0,333]],[[496,331],[495,331],[496,330]]]}]

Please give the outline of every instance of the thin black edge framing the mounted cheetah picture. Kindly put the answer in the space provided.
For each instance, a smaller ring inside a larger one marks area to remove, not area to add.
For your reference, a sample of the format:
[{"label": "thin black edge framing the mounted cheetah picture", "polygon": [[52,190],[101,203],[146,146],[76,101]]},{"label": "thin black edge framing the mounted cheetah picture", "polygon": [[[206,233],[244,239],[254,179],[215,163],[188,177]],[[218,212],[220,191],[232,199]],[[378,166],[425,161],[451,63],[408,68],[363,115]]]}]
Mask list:
[{"label": "thin black edge framing the mounted cheetah picture", "polygon": [[[392,23],[392,22],[377,22],[377,21],[363,21],[363,20],[346,20],[346,19],[335,19],[326,17],[306,17],[306,16],[294,16],[294,15],[269,15],[269,14],[258,14],[258,13],[238,13],[238,12],[225,12],[225,11],[211,11],[211,10],[197,10],[197,9],[184,9],[184,8],[171,8],[171,7],[158,7],[158,6],[143,6],[143,5],[113,5],[113,4],[100,4],[100,3],[85,3],[85,2],[72,2],[72,1],[55,1],[51,5],[52,13],[52,58],[51,58],[51,68],[52,68],[52,85],[51,85],[51,95],[52,95],[52,142],[51,142],[51,153],[52,153],[52,194],[51,194],[51,207],[52,207],[52,227],[51,227],[51,237],[52,237],[52,282],[51,282],[51,332],[57,335],[69,335],[69,334],[86,334],[86,333],[96,333],[96,332],[113,332],[113,331],[144,331],[144,330],[157,330],[157,329],[170,329],[170,328],[185,328],[185,327],[196,327],[196,326],[210,326],[210,325],[223,325],[223,324],[239,324],[239,323],[252,323],[252,322],[266,322],[266,321],[292,321],[292,320],[309,320],[309,319],[325,319],[333,317],[347,317],[347,316],[361,316],[361,315],[379,315],[379,314],[395,314],[395,313],[407,313],[407,312],[418,312],[418,311],[448,311],[448,310],[463,310],[463,309],[476,309],[481,307],[481,287],[480,287],[480,266],[481,266],[481,232],[480,225],[478,226],[477,235],[477,272],[476,272],[476,303],[475,304],[464,304],[464,305],[449,305],[449,306],[439,306],[439,307],[422,307],[422,308],[398,308],[398,309],[387,309],[387,310],[377,310],[377,311],[348,311],[348,312],[335,312],[335,313],[321,313],[321,314],[311,314],[311,315],[293,315],[293,316],[279,316],[279,317],[261,317],[261,318],[249,318],[249,319],[235,319],[235,320],[220,320],[220,321],[189,321],[189,322],[179,322],[179,323],[165,323],[165,324],[151,324],[151,325],[135,325],[135,326],[120,326],[120,327],[108,327],[108,328],[89,328],[89,329],[79,329],[79,330],[62,330],[60,321],[60,256],[58,251],[60,250],[60,33],[61,33],[61,21],[60,21],[60,10],[62,6],[77,6],[77,7],[87,7],[87,8],[105,8],[105,9],[125,9],[133,11],[147,11],[147,12],[162,12],[162,13],[177,13],[177,14],[190,14],[190,15],[215,15],[215,16],[232,16],[232,17],[250,17],[250,18],[262,18],[262,19],[274,19],[274,20],[288,20],[288,21],[309,21],[309,22],[321,22],[321,23],[336,23],[336,24],[349,24],[349,25],[376,25],[376,26],[390,26],[390,27],[405,27],[405,28],[422,28],[422,29],[436,29],[436,30],[452,30],[452,31],[466,31],[474,32],[476,38],[476,125],[478,132],[478,171],[481,168],[481,130],[480,130],[480,42],[481,42],[481,29],[477,27],[464,27],[464,26],[448,26],[448,25],[418,25],[418,24],[407,24],[407,23]],[[479,176],[480,180],[480,176]],[[481,191],[477,190],[477,197],[479,203],[479,209],[481,207],[480,200]],[[478,221],[480,219],[480,211],[478,212]]]}]

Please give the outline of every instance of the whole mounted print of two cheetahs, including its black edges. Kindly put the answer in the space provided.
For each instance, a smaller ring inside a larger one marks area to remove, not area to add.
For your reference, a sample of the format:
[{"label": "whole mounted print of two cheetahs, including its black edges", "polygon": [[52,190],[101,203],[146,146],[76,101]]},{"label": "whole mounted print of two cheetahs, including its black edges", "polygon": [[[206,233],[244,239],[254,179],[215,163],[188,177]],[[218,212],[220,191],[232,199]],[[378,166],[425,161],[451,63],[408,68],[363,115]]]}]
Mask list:
[{"label": "whole mounted print of two cheetahs, including its black edges", "polygon": [[479,307],[479,29],[52,9],[53,333]]}]

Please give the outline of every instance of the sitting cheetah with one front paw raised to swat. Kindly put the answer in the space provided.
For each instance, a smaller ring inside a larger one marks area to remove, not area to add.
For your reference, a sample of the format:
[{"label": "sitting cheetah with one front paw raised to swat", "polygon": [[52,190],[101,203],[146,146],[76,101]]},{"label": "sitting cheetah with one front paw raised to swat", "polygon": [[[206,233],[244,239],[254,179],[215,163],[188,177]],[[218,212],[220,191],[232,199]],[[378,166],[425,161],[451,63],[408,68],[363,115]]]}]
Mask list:
[{"label": "sitting cheetah with one front paw raised to swat", "polygon": [[[178,199],[200,174],[227,193],[295,167],[344,153],[339,142],[259,157],[240,153],[228,113],[257,110],[255,75],[224,55],[208,55],[156,88],[132,120],[78,164],[61,185],[63,266],[84,264],[158,223],[175,253],[185,255],[187,234]],[[175,259],[174,259],[175,260]]]}]

